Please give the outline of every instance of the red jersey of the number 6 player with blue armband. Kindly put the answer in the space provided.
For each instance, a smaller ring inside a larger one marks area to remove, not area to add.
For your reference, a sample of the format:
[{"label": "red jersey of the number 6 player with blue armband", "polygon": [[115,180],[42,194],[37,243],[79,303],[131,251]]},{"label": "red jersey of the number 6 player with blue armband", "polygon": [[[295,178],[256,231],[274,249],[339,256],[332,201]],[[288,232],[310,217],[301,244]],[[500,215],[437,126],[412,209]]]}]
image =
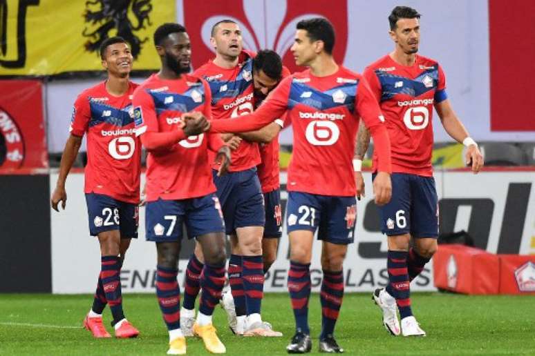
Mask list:
[{"label": "red jersey of the number 6 player with blue armband", "polygon": [[[392,171],[431,177],[433,105],[447,99],[446,79],[437,61],[416,55],[402,66],[386,55],[364,71],[385,117],[392,147]],[[373,169],[377,157],[373,155]]]}]

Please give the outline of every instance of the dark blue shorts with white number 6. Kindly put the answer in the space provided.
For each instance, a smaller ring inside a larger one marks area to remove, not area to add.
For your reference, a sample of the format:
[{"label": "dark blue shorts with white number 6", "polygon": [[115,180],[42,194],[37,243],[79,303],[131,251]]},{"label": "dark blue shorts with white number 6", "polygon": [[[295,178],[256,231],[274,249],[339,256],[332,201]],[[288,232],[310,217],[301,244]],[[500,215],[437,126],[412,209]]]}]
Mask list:
[{"label": "dark blue shorts with white number 6", "polygon": [[[375,179],[375,175],[373,175]],[[433,177],[393,173],[392,199],[379,206],[382,233],[438,237],[438,197]]]}]

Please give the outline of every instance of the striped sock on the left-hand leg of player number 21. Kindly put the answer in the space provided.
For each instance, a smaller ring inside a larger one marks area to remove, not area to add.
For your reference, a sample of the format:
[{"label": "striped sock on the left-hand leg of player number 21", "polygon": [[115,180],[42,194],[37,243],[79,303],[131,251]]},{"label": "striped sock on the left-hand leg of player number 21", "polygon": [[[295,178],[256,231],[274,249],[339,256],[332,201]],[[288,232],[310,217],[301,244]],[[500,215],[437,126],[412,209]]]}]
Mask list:
[{"label": "striped sock on the left-hand leg of player number 21", "polygon": [[310,298],[310,264],[299,264],[290,261],[290,271],[288,272],[288,291],[292,299],[294,310],[295,328],[307,335],[310,335],[308,327],[308,299]]}]

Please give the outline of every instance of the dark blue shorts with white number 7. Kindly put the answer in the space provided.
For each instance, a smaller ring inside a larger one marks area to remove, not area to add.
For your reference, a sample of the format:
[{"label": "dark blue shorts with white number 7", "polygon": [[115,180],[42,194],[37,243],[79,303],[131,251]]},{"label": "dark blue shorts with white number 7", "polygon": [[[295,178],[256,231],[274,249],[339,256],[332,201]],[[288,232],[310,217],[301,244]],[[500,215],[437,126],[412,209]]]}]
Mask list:
[{"label": "dark blue shorts with white number 7", "polygon": [[182,200],[158,199],[147,203],[147,241],[180,241],[184,224],[189,239],[209,233],[223,233],[223,214],[216,195],[211,193]]}]

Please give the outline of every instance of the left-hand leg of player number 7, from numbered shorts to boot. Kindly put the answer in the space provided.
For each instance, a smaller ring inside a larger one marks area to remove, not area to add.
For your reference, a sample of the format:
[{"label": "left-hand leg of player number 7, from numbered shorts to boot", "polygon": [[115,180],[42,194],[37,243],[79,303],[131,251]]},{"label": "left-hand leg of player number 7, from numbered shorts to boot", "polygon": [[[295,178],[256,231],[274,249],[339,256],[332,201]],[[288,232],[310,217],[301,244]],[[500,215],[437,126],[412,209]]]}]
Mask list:
[{"label": "left-hand leg of player number 7, from numbered shorts to boot", "polygon": [[180,329],[180,287],[178,286],[178,256],[182,239],[182,201],[158,199],[145,208],[147,241],[156,242],[156,296],[169,332],[168,354],[186,353],[186,339]]}]

